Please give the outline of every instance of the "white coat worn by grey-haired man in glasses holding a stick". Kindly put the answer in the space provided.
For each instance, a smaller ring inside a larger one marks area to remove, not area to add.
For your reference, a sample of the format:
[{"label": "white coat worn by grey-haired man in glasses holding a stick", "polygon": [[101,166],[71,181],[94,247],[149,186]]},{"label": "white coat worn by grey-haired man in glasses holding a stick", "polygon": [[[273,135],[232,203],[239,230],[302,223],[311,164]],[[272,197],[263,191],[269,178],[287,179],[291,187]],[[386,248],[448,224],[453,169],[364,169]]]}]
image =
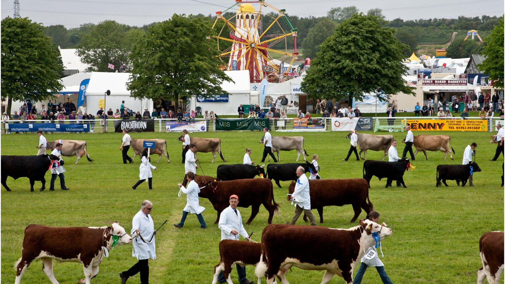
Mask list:
[{"label": "white coat worn by grey-haired man in glasses holding a stick", "polygon": [[[136,230],[140,231],[142,238],[146,242],[149,242],[151,235],[155,232],[155,223],[150,215],[145,215],[142,210],[138,211],[131,222],[131,234],[134,235]],[[153,236],[153,242],[150,244],[144,243],[139,236],[133,239],[133,251],[131,256],[136,257],[138,260],[141,259],[156,259],[156,246],[155,246],[156,236]]]}]

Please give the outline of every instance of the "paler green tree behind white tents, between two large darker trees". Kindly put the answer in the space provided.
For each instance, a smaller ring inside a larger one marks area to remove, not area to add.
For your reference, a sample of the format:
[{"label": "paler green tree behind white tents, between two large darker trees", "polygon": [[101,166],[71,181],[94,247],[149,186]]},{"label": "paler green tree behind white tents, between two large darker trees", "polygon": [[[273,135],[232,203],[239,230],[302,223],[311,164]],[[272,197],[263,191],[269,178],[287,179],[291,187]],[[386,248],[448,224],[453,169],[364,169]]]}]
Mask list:
[{"label": "paler green tree behind white tents, between two large darker trees", "polygon": [[[131,70],[128,61],[127,31],[129,27],[116,21],[103,21],[90,27],[82,34],[77,45],[76,54],[83,63],[89,64],[88,71],[98,72],[128,72]],[[109,69],[108,64],[115,69]]]}]

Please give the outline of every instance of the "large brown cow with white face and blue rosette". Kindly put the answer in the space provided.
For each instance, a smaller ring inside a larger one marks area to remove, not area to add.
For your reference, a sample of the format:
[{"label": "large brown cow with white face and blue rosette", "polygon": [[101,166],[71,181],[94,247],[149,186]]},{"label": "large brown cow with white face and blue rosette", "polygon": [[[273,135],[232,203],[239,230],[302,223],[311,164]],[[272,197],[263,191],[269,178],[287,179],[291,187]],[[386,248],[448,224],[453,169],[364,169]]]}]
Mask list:
[{"label": "large brown cow with white face and blue rosette", "polygon": [[[352,271],[365,251],[375,245],[372,233],[380,240],[391,235],[385,224],[360,220],[360,225],[349,229],[319,226],[273,224],[263,230],[262,254],[255,274],[265,275],[272,284],[275,276],[288,283],[284,274],[291,267],[304,270],[326,270],[321,284],[328,283],[337,274],[347,284],[352,283]],[[266,262],[266,263],[265,263]]]}]

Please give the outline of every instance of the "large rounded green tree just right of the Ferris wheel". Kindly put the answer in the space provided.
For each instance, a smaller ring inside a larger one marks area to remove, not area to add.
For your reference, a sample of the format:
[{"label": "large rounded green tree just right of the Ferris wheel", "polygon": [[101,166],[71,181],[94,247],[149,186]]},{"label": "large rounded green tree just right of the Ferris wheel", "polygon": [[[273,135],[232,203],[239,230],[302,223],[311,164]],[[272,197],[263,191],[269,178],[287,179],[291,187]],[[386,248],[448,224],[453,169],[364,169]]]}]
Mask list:
[{"label": "large rounded green tree just right of the Ferris wheel", "polygon": [[380,18],[363,13],[342,21],[321,44],[301,90],[312,99],[362,99],[379,86],[384,90],[381,99],[397,92],[412,94],[401,77],[407,72],[402,64],[406,45],[393,36],[395,31],[382,27]]}]

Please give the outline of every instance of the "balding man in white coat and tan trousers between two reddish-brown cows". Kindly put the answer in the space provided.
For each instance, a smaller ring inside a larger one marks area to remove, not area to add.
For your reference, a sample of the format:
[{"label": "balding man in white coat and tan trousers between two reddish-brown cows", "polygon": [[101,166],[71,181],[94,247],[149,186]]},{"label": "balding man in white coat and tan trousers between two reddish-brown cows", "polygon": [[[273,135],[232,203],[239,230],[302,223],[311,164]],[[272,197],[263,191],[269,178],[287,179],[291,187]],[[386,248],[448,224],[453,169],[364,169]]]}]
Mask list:
[{"label": "balding man in white coat and tan trousers between two reddish-brown cows", "polygon": [[311,221],[311,225],[316,226],[316,219],[311,211],[311,193],[309,189],[309,179],[307,179],[305,175],[305,169],[301,166],[298,167],[296,169],[296,175],[298,176],[298,180],[296,180],[294,192],[289,198],[289,200],[292,200],[296,204],[294,216],[293,219],[291,219],[290,222],[286,222],[286,224],[294,225],[301,213],[304,212],[309,218],[309,221]]}]

